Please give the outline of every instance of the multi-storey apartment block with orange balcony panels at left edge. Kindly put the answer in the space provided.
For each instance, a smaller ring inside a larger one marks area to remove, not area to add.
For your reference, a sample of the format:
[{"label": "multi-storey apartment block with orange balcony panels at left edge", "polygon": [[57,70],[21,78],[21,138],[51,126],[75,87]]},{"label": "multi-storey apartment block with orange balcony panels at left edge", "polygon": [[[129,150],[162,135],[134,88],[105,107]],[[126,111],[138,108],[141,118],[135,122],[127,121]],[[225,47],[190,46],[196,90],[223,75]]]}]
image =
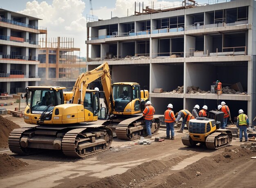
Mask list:
[{"label": "multi-storey apartment block with orange balcony panels at left edge", "polygon": [[0,9],[0,93],[38,85],[38,18]]}]

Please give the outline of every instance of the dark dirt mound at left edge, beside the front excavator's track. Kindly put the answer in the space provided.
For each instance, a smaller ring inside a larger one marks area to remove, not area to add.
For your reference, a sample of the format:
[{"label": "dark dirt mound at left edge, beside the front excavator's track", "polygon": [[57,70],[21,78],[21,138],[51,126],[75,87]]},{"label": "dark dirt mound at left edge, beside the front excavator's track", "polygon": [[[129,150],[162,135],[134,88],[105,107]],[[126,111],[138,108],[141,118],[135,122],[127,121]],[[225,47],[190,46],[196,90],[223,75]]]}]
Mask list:
[{"label": "dark dirt mound at left edge, beside the front excavator's track", "polygon": [[0,148],[8,147],[8,137],[13,129],[20,128],[19,125],[0,116]]}]

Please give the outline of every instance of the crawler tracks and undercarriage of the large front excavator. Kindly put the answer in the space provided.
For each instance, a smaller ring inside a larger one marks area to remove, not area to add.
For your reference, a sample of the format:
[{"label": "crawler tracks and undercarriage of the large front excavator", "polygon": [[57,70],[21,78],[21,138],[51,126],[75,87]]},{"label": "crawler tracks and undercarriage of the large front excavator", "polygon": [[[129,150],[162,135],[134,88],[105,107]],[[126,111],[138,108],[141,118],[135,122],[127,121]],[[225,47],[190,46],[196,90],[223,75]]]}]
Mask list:
[{"label": "crawler tracks and undercarriage of the large front excavator", "polygon": [[[30,127],[14,129],[8,142],[9,149],[20,155],[38,153],[42,149],[55,149],[62,150],[69,157],[87,157],[109,149],[112,138],[111,129],[102,125],[67,129]],[[55,139],[59,140],[59,147],[54,146]]]}]

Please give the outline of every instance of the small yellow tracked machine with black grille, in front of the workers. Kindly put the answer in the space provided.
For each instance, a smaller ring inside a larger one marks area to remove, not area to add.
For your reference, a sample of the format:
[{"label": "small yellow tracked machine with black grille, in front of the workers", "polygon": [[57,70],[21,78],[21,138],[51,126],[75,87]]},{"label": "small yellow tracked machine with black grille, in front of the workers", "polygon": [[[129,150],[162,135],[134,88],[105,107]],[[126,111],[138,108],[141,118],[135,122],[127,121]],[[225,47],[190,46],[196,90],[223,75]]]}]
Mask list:
[{"label": "small yellow tracked machine with black grille, in front of the workers", "polygon": [[200,143],[209,149],[219,149],[231,143],[231,131],[219,129],[221,122],[218,120],[223,118],[223,112],[209,111],[208,117],[209,115],[214,119],[199,117],[189,120],[189,134],[182,136],[182,143],[185,146]]}]

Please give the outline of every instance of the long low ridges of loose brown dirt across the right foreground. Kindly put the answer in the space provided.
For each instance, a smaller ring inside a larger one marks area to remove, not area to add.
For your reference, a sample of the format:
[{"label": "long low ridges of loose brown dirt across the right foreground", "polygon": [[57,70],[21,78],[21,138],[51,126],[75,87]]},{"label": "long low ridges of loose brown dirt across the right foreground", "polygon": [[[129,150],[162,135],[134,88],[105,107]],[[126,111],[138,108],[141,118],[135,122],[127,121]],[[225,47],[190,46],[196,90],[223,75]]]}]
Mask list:
[{"label": "long low ridges of loose brown dirt across the right foreground", "polygon": [[[197,162],[186,166],[180,171],[171,170],[171,166],[175,166],[182,161],[182,158],[188,156],[175,157],[168,161],[152,160],[129,169],[123,174],[114,175],[111,177],[105,177],[98,181],[94,181],[90,184],[81,185],[78,187],[90,187],[90,188],[131,188],[131,187],[155,187],[155,188],[167,188],[184,186],[186,182],[196,180],[198,175],[216,172],[225,166],[227,163],[236,163],[236,160],[240,160],[240,157],[247,157],[252,155],[253,152],[239,146],[230,146],[223,149],[223,152],[210,157],[203,157]],[[196,175],[196,172],[199,172]],[[159,175],[159,176],[158,176]]]}]

